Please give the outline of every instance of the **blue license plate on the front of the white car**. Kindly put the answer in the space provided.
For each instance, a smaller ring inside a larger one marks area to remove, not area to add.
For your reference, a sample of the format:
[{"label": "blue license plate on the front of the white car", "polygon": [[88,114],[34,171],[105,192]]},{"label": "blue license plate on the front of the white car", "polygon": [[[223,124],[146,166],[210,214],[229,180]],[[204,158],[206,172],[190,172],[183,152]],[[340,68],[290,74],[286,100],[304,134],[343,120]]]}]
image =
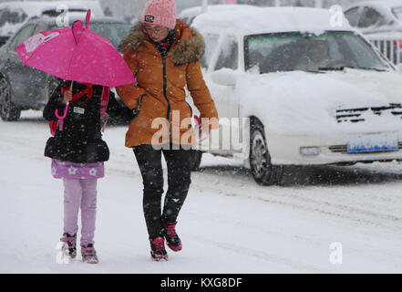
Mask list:
[{"label": "blue license plate on the front of the white car", "polygon": [[347,152],[381,152],[381,151],[397,151],[397,134],[382,133],[373,135],[357,135],[347,143]]}]

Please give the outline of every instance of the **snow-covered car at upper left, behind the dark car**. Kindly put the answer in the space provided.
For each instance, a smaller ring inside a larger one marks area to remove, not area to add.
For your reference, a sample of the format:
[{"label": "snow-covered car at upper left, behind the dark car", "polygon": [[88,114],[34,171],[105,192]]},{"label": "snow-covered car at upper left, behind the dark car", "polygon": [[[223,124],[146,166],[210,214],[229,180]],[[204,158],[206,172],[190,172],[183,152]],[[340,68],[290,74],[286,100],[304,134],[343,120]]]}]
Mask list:
[{"label": "snow-covered car at upper left, behind the dark car", "polygon": [[0,4],[0,47],[33,16],[58,16],[66,11],[105,16],[98,1],[24,1]]}]

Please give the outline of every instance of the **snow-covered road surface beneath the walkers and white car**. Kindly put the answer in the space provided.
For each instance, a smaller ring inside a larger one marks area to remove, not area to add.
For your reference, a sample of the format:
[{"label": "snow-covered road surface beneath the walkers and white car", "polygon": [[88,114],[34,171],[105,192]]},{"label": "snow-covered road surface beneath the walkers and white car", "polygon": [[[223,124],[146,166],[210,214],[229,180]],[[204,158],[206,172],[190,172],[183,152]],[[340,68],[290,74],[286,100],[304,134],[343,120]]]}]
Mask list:
[{"label": "snow-covered road surface beneath the walkers and white car", "polygon": [[[62,183],[43,156],[38,111],[0,121],[0,273],[401,273],[402,164],[289,168],[262,187],[238,162],[205,155],[180,213],[180,253],[150,260],[142,185],[125,126],[105,133],[98,183],[99,265],[59,265]],[[295,178],[296,177],[296,178]],[[343,264],[331,264],[339,252]],[[169,252],[169,251],[168,251]]]}]

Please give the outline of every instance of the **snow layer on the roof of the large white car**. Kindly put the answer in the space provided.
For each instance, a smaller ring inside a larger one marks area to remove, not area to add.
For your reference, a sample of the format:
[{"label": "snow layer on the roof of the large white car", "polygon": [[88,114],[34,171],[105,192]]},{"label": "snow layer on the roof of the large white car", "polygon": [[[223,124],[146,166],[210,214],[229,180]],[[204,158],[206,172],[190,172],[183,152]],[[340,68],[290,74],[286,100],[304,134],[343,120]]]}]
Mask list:
[{"label": "snow layer on the roof of the large white car", "polygon": [[251,35],[259,33],[302,31],[321,34],[331,30],[352,30],[342,14],[341,26],[331,25],[335,14],[326,9],[306,7],[264,7],[246,11],[211,11],[194,19],[193,26],[202,33],[227,33]]}]

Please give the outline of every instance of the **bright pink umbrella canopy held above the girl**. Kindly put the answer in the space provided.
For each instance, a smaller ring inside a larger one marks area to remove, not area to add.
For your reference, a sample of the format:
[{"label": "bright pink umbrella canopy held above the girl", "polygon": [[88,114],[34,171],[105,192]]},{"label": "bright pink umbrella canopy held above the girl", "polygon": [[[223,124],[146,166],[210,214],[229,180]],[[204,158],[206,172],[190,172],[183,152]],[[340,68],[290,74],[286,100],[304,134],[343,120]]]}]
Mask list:
[{"label": "bright pink umbrella canopy held above the girl", "polygon": [[15,51],[23,63],[63,80],[114,88],[137,83],[126,61],[104,37],[76,21],[72,27],[31,36]]}]

